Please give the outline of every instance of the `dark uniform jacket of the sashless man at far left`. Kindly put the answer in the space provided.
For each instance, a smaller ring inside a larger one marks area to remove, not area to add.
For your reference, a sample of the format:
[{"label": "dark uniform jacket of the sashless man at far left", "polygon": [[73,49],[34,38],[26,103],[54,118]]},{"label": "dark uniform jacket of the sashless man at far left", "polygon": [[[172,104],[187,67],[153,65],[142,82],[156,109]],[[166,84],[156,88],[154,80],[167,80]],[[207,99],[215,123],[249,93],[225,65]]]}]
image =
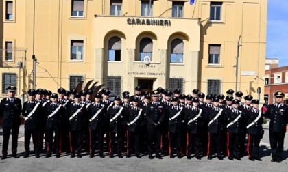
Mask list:
[{"label": "dark uniform jacket of the sashless man at far left", "polygon": [[21,110],[22,104],[19,98],[14,98],[13,103],[10,102],[9,98],[3,98],[0,103],[0,117],[2,117],[2,126],[19,126]]}]

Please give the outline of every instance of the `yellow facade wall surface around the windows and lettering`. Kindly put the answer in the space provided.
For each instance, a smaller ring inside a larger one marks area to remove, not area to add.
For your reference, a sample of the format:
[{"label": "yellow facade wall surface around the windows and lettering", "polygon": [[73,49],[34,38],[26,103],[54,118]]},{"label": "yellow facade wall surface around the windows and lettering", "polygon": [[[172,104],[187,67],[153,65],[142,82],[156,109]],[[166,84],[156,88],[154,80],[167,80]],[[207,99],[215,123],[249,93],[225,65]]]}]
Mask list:
[{"label": "yellow facade wall surface around the windows and lettering", "polygon": [[[84,76],[85,82],[94,79],[98,84],[106,84],[107,76],[121,76],[121,91],[130,92],[138,78],[152,79],[153,89],[169,87],[169,78],[183,78],[184,94],[191,94],[196,87],[207,93],[207,80],[219,79],[220,91],[225,93],[235,89],[233,66],[240,35],[237,89],[256,97],[257,87],[264,88],[267,0],[214,0],[223,2],[221,21],[217,22],[209,20],[208,0],[196,1],[194,5],[184,1],[183,18],[171,18],[173,2],[166,0],[154,1],[152,17],[141,17],[139,0],[123,0],[121,16],[110,16],[109,0],[85,0],[81,18],[71,17],[71,0],[13,2],[16,15],[14,20],[3,22],[3,42],[12,40],[15,47],[27,49],[21,69],[25,79],[23,86],[19,85],[23,88],[19,94],[33,86],[32,55],[38,60],[36,88],[51,91],[69,88],[72,74]],[[171,26],[129,25],[128,18],[169,20]],[[107,60],[108,39],[114,35],[121,38],[120,62]],[[134,60],[139,50],[137,42],[146,36],[153,40],[149,68]],[[169,63],[173,38],[184,42],[183,63]],[[82,61],[70,60],[71,40],[84,41]],[[209,44],[221,44],[218,65],[208,64]]]}]

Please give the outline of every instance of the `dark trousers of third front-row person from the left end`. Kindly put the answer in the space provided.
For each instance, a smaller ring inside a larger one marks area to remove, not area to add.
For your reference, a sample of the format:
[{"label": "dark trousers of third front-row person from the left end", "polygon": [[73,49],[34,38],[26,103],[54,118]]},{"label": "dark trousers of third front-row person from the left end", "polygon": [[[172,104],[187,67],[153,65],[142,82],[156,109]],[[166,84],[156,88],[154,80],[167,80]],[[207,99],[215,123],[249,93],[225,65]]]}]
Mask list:
[{"label": "dark trousers of third front-row person from the left end", "polygon": [[[54,132],[55,132],[55,136],[53,137]],[[52,152],[53,152],[53,138],[54,138],[55,151],[58,154],[61,154],[60,130],[59,129],[53,129],[53,128],[47,128],[45,137],[46,137],[46,144],[47,144],[47,153],[52,154]]]}]

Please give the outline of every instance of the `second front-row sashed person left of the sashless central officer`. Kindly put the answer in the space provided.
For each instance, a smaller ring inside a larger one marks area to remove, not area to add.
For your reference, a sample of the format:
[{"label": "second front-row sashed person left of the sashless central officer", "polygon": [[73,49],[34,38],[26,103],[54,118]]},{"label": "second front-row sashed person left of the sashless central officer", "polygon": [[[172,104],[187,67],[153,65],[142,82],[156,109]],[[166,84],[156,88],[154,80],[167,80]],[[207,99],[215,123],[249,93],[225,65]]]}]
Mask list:
[{"label": "second front-row sashed person left of the sashless central officer", "polygon": [[[119,96],[115,96],[114,106],[111,106],[106,113],[106,115],[109,117],[109,123],[110,123],[109,158],[114,157],[115,149],[117,149],[118,157],[123,158],[122,149],[123,149],[123,137],[125,133],[123,121],[125,121],[125,110],[124,107],[120,106],[120,101],[121,98]],[[116,139],[117,144],[115,143]]]}]

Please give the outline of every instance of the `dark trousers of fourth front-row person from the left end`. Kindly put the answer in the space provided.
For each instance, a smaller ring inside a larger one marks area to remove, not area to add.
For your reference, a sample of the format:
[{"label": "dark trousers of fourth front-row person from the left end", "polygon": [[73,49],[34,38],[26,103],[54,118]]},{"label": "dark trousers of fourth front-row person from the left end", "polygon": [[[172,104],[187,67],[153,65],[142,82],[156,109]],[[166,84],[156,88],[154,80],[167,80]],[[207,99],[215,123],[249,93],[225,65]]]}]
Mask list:
[{"label": "dark trousers of fourth front-row person from the left end", "polygon": [[82,130],[71,130],[70,131],[71,154],[75,154],[75,151],[77,150],[77,154],[80,155],[82,152],[82,143],[83,143]]}]

